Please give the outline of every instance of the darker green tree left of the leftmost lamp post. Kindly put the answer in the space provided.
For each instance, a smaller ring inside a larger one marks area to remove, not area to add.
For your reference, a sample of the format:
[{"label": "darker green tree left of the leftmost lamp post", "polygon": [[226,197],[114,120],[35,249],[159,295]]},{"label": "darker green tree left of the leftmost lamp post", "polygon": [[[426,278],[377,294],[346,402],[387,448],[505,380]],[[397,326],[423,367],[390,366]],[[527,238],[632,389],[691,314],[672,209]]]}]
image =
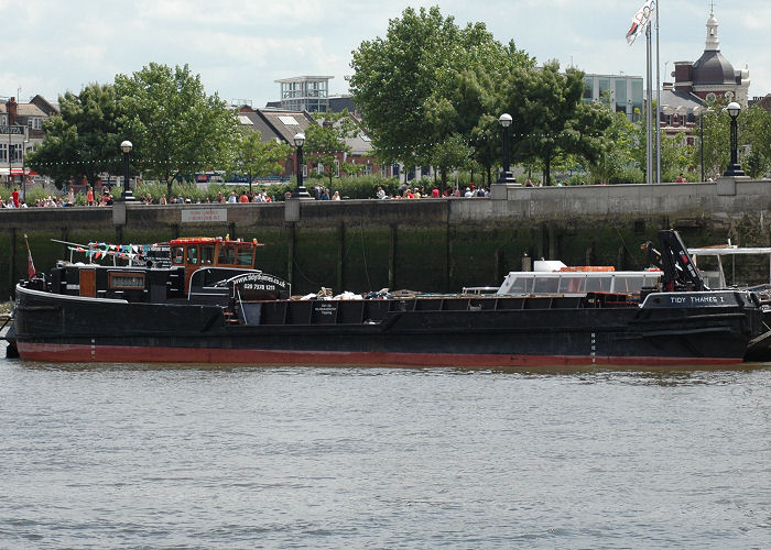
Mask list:
[{"label": "darker green tree left of the leftmost lamp post", "polygon": [[59,189],[75,176],[94,182],[102,172],[119,172],[122,131],[115,87],[90,84],[58,101],[61,114],[43,123],[45,141],[28,157],[32,169],[50,175]]}]

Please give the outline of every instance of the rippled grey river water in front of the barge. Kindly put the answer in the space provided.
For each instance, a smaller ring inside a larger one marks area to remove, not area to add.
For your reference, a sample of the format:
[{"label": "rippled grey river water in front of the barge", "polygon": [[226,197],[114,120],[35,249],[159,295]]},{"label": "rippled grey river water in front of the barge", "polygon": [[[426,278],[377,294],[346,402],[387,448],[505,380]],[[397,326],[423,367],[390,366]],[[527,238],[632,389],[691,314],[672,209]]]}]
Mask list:
[{"label": "rippled grey river water in front of the barge", "polygon": [[771,366],[0,359],[0,418],[1,548],[771,547]]}]

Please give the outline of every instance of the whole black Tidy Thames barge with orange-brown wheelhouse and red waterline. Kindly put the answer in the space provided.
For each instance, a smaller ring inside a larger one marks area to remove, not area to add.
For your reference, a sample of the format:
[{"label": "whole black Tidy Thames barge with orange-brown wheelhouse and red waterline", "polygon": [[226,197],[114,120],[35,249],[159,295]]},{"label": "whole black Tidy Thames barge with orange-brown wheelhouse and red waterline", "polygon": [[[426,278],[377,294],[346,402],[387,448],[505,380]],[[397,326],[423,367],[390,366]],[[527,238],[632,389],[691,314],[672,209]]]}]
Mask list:
[{"label": "whole black Tidy Thames barge with orange-brown wheelhouse and red waterline", "polygon": [[257,241],[166,246],[165,261],[59,262],[48,276],[21,282],[9,354],[99,363],[725,365],[760,356],[770,338],[758,297],[706,288],[674,231],[662,231],[653,251],[661,271],[634,272],[622,289],[567,272],[565,286],[550,282],[544,292],[536,285],[546,276],[520,288],[509,274],[496,294],[329,299],[297,299],[287,282],[258,270]]}]

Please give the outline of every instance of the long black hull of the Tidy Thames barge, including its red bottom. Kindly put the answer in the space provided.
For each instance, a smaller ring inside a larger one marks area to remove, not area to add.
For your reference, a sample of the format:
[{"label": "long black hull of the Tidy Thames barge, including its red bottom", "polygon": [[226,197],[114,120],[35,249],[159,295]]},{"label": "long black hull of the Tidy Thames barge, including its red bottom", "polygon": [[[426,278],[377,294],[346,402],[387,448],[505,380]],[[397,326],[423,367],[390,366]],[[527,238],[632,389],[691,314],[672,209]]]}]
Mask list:
[{"label": "long black hull of the Tidy Thames barge, including its red bottom", "polygon": [[[408,302],[402,311],[403,300],[377,300],[367,306],[386,311],[363,322],[348,322],[341,306],[329,320],[310,309],[313,302],[276,301],[252,306],[250,315],[259,314],[263,323],[249,324],[228,320],[219,306],[129,304],[18,287],[14,343],[22,359],[54,362],[463,367],[741,362],[750,340],[763,332],[760,309],[748,293],[709,296],[721,304],[588,308],[533,298],[495,309],[465,301],[465,310],[441,309],[446,305],[419,310],[427,306]],[[514,304],[519,309],[507,309]],[[290,312],[269,323],[280,307]],[[306,308],[308,317],[293,318],[292,308]]]}]

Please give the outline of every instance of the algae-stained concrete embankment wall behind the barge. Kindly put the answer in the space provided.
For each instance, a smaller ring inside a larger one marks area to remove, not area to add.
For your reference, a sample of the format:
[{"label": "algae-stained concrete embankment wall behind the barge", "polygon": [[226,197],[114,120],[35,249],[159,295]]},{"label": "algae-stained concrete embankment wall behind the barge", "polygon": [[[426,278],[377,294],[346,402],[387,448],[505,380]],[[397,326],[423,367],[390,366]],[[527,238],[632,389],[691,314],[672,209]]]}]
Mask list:
[{"label": "algae-stained concrete embankment wall behind the barge", "polygon": [[[665,228],[677,229],[691,246],[727,239],[768,246],[771,182],[729,184],[511,187],[503,200],[129,205],[124,220],[112,208],[0,210],[0,297],[26,275],[24,234],[39,271],[69,257],[51,239],[122,244],[194,235],[258,239],[264,243],[259,266],[290,279],[295,294],[321,286],[453,292],[497,285],[504,273],[521,268],[525,254],[568,265],[640,268],[647,266],[640,245]],[[199,221],[205,213],[215,221]],[[767,258],[747,262],[748,278],[768,280]]]}]

